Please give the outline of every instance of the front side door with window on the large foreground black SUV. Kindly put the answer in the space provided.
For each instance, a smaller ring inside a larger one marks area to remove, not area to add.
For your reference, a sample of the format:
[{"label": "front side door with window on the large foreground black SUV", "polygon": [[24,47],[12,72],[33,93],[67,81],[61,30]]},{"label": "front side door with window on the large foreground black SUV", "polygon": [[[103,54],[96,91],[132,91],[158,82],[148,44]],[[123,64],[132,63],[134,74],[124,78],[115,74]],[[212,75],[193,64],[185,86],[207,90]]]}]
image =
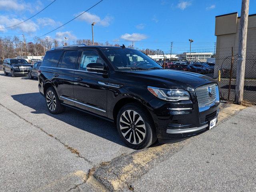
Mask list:
[{"label": "front side door with window on the large foreground black SUV", "polygon": [[108,78],[104,74],[86,70],[87,64],[93,62],[104,63],[96,51],[83,50],[78,70],[74,74],[75,106],[107,116],[107,86],[99,82],[107,83]]}]

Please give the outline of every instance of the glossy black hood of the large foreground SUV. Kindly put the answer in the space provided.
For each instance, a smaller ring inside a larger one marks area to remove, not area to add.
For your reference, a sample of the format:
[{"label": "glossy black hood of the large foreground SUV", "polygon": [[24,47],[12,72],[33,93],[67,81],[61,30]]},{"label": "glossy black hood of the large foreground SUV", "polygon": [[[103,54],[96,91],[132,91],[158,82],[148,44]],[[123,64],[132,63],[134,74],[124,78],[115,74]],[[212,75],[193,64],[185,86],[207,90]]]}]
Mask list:
[{"label": "glossy black hood of the large foreground SUV", "polygon": [[130,73],[134,74],[140,74],[145,76],[152,76],[159,79],[164,80],[170,80],[175,82],[182,82],[182,83],[192,83],[192,82],[213,82],[214,79],[198,74],[198,73],[192,73],[192,72],[184,72],[184,71],[178,71],[178,70],[133,70],[129,71]]}]

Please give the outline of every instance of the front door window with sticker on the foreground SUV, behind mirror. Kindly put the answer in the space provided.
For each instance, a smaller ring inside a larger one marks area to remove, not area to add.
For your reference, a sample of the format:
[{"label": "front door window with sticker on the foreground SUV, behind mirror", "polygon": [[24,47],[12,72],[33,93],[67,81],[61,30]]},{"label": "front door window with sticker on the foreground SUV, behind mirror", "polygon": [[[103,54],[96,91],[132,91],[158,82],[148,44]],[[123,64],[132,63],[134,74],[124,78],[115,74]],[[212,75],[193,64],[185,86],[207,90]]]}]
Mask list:
[{"label": "front door window with sticker on the foreground SUV, behind mirror", "polygon": [[84,50],[79,64],[79,70],[86,71],[86,66],[89,63],[101,63],[103,65],[104,61],[96,51]]}]

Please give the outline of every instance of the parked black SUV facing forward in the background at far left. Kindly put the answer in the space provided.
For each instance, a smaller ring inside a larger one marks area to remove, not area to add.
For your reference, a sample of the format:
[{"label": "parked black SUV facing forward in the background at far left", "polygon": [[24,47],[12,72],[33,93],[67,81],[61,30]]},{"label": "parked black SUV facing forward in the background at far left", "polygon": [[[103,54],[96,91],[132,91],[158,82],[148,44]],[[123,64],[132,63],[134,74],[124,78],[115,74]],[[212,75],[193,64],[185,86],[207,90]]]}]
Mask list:
[{"label": "parked black SUV facing forward in the background at far left", "polygon": [[30,66],[31,64],[29,64],[25,59],[4,59],[4,75],[7,76],[9,73],[12,77],[17,75],[27,75],[28,68],[30,68]]}]

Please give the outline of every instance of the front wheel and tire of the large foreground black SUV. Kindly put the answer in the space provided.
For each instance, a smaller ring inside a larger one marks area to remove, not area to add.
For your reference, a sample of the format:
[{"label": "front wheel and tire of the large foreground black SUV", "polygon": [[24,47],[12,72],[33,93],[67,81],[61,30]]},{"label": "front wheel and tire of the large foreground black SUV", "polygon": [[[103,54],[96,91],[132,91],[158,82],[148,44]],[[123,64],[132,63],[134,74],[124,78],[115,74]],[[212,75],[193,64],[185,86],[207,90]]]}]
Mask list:
[{"label": "front wheel and tire of the large foreground black SUV", "polygon": [[[128,115],[128,112],[130,113],[130,116]],[[126,123],[124,124],[123,122]],[[128,124],[130,124],[130,126]],[[157,139],[154,122],[150,114],[145,111],[143,107],[140,107],[140,105],[135,103],[126,104],[119,110],[116,126],[118,134],[124,143],[134,149],[146,148],[153,144]]]}]

